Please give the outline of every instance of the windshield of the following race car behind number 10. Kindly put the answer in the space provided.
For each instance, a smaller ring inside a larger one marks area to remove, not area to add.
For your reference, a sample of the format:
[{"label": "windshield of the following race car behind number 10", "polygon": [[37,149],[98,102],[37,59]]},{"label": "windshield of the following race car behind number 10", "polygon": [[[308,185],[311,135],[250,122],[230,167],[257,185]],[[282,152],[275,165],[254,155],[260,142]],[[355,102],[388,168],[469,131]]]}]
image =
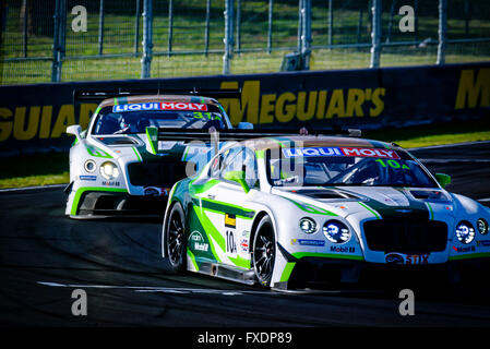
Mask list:
[{"label": "windshield of the following race car behind number 10", "polygon": [[[180,107],[179,109],[177,109]],[[180,110],[181,109],[181,110]],[[218,107],[195,103],[144,103],[105,107],[93,134],[144,133],[147,127],[167,129],[226,129]]]}]

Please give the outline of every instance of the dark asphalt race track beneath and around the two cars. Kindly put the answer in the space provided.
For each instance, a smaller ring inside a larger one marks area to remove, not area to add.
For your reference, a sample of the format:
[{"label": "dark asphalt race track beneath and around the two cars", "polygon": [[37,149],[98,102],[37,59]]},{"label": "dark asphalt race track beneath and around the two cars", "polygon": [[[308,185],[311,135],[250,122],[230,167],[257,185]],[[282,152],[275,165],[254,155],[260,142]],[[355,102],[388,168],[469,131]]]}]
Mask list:
[{"label": "dark asphalt race track beneath and around the two cars", "polygon": [[[449,190],[490,200],[490,143],[413,152]],[[402,288],[284,293],[194,274],[170,275],[160,222],[71,220],[60,188],[0,193],[0,326],[490,326],[490,290],[422,287],[415,315]],[[87,294],[87,315],[71,312]]]}]

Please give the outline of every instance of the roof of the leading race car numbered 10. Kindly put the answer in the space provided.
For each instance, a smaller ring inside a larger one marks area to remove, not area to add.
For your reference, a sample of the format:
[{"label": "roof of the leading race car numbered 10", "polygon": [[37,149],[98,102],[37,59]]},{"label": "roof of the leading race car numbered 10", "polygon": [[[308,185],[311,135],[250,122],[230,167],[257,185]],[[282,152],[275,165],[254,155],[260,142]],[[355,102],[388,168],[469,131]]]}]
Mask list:
[{"label": "roof of the leading race car numbered 10", "polygon": [[319,146],[345,146],[345,147],[364,147],[364,148],[385,148],[401,149],[399,146],[381,141],[354,139],[343,136],[273,136],[242,141],[246,146],[253,151],[266,151],[280,147],[319,147]]}]

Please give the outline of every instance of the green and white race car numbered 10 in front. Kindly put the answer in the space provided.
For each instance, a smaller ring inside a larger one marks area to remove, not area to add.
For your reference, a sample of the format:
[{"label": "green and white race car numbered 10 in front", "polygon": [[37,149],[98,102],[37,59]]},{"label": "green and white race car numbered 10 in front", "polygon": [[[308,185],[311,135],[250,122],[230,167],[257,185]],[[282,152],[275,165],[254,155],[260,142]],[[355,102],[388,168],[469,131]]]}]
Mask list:
[{"label": "green and white race car numbered 10 in front", "polygon": [[357,282],[380,268],[456,282],[488,267],[490,209],[445,191],[450,181],[383,142],[237,142],[172,186],[163,257],[174,272],[276,289]]}]

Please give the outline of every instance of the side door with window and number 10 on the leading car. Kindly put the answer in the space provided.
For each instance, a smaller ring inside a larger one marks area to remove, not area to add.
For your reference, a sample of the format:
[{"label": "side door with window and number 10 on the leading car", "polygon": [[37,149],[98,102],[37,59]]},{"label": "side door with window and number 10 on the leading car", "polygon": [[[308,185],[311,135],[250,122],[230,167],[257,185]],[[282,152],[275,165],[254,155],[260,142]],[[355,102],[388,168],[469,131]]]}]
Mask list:
[{"label": "side door with window and number 10 on the leading car", "polygon": [[[218,161],[219,167],[215,164],[210,173],[216,184],[201,200],[204,219],[212,224],[206,234],[218,262],[250,268],[250,231],[255,214],[250,207],[250,196],[258,188],[255,156],[250,148],[237,146]],[[241,170],[246,172],[249,192],[240,183],[226,179],[226,173]]]}]

